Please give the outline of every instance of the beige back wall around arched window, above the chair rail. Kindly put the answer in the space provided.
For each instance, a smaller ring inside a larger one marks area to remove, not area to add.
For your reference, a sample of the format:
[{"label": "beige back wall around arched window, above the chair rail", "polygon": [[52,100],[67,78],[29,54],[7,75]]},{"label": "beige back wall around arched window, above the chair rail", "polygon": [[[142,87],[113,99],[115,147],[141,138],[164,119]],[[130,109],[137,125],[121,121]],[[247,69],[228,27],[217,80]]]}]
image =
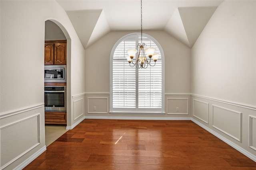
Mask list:
[{"label": "beige back wall around arched window, above the chair rail", "polygon": [[[162,45],[165,57],[165,93],[190,93],[190,48],[164,31],[143,31]],[[112,31],[86,49],[86,93],[110,92],[110,52],[130,31]]]}]

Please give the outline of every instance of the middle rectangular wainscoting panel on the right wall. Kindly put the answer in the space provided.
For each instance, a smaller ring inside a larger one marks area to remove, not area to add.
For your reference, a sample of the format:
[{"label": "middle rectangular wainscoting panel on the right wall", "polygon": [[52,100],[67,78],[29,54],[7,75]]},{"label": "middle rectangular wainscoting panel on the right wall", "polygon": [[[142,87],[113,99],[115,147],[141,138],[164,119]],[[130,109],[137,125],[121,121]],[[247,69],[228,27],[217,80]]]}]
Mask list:
[{"label": "middle rectangular wainscoting panel on the right wall", "polygon": [[242,113],[212,105],[212,127],[241,142]]}]

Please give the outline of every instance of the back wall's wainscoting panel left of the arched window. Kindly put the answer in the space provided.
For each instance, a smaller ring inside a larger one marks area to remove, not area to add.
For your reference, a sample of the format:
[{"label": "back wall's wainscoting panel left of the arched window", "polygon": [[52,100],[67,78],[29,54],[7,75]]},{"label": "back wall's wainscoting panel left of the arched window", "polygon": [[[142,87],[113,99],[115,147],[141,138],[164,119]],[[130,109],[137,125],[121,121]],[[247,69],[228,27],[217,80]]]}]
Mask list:
[{"label": "back wall's wainscoting panel left of the arched window", "polygon": [[88,97],[87,113],[106,113],[108,114],[108,98]]}]

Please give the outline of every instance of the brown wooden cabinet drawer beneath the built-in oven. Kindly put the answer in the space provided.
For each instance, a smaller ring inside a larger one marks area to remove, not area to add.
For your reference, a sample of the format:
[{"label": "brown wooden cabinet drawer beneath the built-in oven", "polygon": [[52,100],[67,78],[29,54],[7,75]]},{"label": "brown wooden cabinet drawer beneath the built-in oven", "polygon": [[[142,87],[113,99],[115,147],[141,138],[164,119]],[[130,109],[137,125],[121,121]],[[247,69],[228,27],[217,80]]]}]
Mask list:
[{"label": "brown wooden cabinet drawer beneath the built-in oven", "polygon": [[45,124],[67,124],[67,114],[65,111],[45,111],[44,119]]}]

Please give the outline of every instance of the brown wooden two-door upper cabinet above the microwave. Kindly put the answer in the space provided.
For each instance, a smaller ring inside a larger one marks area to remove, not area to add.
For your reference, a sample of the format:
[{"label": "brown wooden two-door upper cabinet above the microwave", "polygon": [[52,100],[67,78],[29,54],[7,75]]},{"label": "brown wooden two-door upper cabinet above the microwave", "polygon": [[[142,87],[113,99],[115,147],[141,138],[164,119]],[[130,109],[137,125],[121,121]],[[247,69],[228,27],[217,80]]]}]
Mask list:
[{"label": "brown wooden two-door upper cabinet above the microwave", "polygon": [[66,65],[67,64],[67,41],[45,41],[44,65]]}]

